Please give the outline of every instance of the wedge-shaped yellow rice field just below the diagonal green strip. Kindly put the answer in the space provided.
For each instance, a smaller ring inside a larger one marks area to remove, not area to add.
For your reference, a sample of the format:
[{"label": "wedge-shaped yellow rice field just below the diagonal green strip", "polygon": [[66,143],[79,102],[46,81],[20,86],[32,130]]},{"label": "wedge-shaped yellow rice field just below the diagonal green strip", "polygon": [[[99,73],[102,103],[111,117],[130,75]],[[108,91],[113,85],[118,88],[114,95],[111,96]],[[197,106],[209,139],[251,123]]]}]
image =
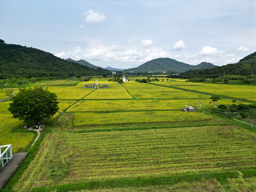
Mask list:
[{"label": "wedge-shaped yellow rice field just below the diagonal green strip", "polygon": [[136,99],[203,99],[209,95],[171,89],[147,83],[125,82],[126,89]]}]

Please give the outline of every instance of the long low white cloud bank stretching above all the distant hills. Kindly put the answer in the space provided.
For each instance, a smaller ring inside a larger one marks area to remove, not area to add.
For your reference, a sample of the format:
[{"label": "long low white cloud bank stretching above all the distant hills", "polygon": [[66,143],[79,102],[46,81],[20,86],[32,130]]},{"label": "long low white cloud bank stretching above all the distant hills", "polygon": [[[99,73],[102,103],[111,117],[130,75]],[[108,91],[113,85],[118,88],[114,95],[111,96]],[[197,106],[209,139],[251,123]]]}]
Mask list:
[{"label": "long low white cloud bank stretching above all the distant hills", "polygon": [[[168,50],[168,48],[166,48]],[[74,47],[70,51],[62,51],[55,56],[74,60],[84,59],[93,65],[100,67],[115,68],[133,68],[156,58],[168,57],[176,59],[190,65],[197,65],[203,61],[211,62],[214,65],[226,65],[228,63],[238,62],[241,57],[233,53],[227,54],[217,48],[206,46],[201,52],[188,54],[181,52],[179,54],[171,54],[162,47],[143,46],[141,42],[134,42],[133,46],[122,46],[120,44],[105,44],[102,42],[92,41],[84,43],[81,46]]]}]

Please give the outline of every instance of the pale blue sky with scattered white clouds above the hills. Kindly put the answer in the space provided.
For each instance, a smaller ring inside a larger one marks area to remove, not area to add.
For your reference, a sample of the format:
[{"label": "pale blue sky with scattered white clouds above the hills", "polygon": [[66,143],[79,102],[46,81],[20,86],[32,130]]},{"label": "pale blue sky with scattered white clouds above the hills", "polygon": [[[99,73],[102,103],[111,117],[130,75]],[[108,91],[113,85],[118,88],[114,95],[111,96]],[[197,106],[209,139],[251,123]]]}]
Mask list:
[{"label": "pale blue sky with scattered white clouds above the hills", "polygon": [[0,39],[103,68],[222,66],[256,51],[256,0],[0,0]]}]

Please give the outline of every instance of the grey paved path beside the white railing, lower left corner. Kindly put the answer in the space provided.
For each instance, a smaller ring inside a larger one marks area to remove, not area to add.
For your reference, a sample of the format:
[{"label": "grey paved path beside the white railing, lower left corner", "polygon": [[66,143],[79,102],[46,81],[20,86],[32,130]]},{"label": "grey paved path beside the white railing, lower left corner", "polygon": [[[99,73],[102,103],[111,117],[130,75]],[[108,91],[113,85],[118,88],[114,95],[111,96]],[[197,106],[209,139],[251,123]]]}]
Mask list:
[{"label": "grey paved path beside the white railing, lower left corner", "polygon": [[15,153],[12,155],[11,161],[0,171],[0,191],[9,179],[11,179],[12,175],[17,171],[19,165],[27,155],[28,153]]}]

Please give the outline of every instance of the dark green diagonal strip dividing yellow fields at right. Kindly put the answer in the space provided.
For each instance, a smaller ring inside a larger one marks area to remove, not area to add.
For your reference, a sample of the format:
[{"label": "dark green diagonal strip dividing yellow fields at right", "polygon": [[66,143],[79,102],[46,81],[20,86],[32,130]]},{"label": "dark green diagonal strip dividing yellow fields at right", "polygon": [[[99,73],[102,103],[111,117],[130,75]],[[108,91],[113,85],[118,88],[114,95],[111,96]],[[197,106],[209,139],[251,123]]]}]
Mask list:
[{"label": "dark green diagonal strip dividing yellow fields at right", "polygon": [[225,98],[225,99],[231,99],[231,100],[237,100],[237,101],[242,101],[242,102],[256,104],[255,101],[251,101],[251,100],[247,100],[247,99],[242,99],[242,98],[234,98],[234,97],[229,97],[229,96],[220,95],[220,94],[207,93],[207,92],[196,91],[196,90],[189,90],[189,89],[185,89],[185,88],[181,88],[181,87],[175,87],[175,86],[170,86],[170,85],[160,85],[160,84],[155,84],[155,83],[149,83],[149,84],[156,85],[156,86],[168,87],[168,88],[171,88],[171,89],[177,89],[177,90],[182,90],[182,91],[190,91],[190,92],[199,93],[199,94],[215,95],[215,96],[219,96],[219,97]]}]

